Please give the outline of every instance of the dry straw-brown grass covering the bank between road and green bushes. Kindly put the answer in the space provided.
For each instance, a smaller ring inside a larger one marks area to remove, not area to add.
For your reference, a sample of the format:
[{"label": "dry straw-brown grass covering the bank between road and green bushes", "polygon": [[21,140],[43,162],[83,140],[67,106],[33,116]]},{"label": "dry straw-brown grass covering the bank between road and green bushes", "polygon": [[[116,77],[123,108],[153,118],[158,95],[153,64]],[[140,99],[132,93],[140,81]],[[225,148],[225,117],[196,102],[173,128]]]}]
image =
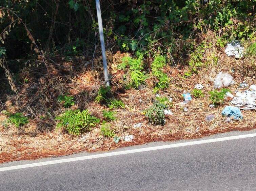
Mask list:
[{"label": "dry straw-brown grass covering the bank between road and green bushes", "polygon": [[[213,54],[218,57],[217,64],[211,59]],[[155,100],[151,80],[147,81],[147,88],[143,90],[124,90],[120,84],[123,72],[116,70],[116,65],[120,62],[122,56],[123,54],[120,53],[108,56],[109,70],[112,74],[113,96],[122,100],[126,105],[125,109],[116,109],[118,118],[110,123],[118,136],[133,134],[135,138],[132,142],[120,141],[115,144],[113,138],[105,138],[101,135],[100,125],[79,137],[72,137],[63,131],[54,130],[56,125],[55,116],[64,111],[64,108],[56,103],[56,96],[64,92],[69,92],[75,97],[76,105],[73,106],[73,109],[87,108],[93,115],[102,119],[101,111],[106,109],[106,106],[95,103],[94,97],[101,85],[100,81],[102,81],[103,75],[101,70],[91,71],[85,68],[84,71],[79,73],[74,72],[73,77],[55,76],[51,80],[49,77],[42,77],[38,82],[22,86],[18,97],[8,97],[5,102],[6,110],[12,113],[17,111],[23,111],[24,114],[31,113],[32,117],[29,119],[29,124],[20,129],[12,126],[9,128],[1,127],[0,163],[68,155],[80,151],[107,150],[149,141],[189,139],[225,131],[256,128],[255,111],[242,111],[243,120],[226,122],[225,117],[221,115],[221,111],[225,105],[230,105],[229,100],[225,100],[223,105],[216,108],[209,107],[211,103],[208,92],[213,89],[213,79],[219,71],[227,72],[234,77],[236,84],[229,87],[233,94],[235,94],[235,90],[238,89],[239,83],[242,81],[249,85],[256,84],[255,78],[245,76],[241,72],[243,71],[243,62],[248,62],[247,59],[238,60],[227,57],[223,54],[223,49],[209,49],[206,52],[208,66],[203,67],[197,75],[188,79],[182,78],[188,68],[166,67],[165,72],[172,77],[172,80],[170,87],[159,92],[159,94],[161,97],[173,98],[171,110],[174,115],[166,116],[164,126],[152,126],[147,123],[145,116],[142,114]],[[98,62],[97,60],[94,62],[96,68],[99,66]],[[63,65],[61,67],[64,67]],[[234,73],[232,73],[232,70]],[[47,80],[50,80],[50,82],[46,83]],[[182,106],[180,104],[183,101],[182,92],[184,90],[192,91],[198,83],[204,86],[202,89],[204,97],[193,98],[189,104]],[[43,90],[41,92],[33,91],[34,94],[29,94],[28,91],[33,89],[33,86]],[[187,107],[189,111],[184,112],[183,107]],[[50,108],[50,110],[47,110],[47,108]],[[206,122],[205,117],[209,114],[215,114],[216,118],[211,122]],[[42,119],[39,116],[46,116],[46,118]],[[0,121],[3,121],[5,117],[1,114]],[[139,122],[142,123],[142,127],[134,128],[133,126]]]}]

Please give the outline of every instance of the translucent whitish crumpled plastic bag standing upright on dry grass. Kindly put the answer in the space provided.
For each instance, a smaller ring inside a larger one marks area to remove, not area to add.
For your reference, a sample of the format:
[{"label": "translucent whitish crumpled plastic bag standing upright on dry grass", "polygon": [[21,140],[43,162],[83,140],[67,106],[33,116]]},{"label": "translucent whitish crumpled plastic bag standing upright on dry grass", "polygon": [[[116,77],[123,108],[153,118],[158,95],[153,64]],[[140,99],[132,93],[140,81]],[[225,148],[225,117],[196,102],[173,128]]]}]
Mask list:
[{"label": "translucent whitish crumpled plastic bag standing upright on dry grass", "polygon": [[223,74],[222,72],[219,72],[219,74],[214,79],[213,86],[215,88],[221,88],[221,87],[228,87],[229,85],[232,85],[234,83],[235,81],[233,80],[233,77],[230,74],[228,73]]}]

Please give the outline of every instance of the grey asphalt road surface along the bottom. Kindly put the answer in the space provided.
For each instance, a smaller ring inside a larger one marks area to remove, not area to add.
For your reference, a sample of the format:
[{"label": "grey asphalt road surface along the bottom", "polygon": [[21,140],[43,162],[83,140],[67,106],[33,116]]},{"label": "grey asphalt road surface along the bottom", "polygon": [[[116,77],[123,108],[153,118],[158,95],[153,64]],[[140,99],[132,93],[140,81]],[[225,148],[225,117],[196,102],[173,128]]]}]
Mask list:
[{"label": "grey asphalt road surface along the bottom", "polygon": [[[204,139],[250,133],[256,131]],[[190,141],[196,140],[156,142],[118,151]],[[12,162],[0,168],[95,154]],[[256,137],[0,171],[0,190],[256,190]]]}]

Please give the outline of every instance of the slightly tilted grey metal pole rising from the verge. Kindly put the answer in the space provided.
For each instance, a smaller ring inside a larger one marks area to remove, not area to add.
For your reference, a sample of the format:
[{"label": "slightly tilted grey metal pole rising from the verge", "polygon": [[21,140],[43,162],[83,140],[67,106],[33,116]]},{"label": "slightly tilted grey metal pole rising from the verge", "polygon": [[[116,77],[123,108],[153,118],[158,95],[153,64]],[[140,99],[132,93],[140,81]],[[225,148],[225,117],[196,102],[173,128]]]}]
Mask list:
[{"label": "slightly tilted grey metal pole rising from the verge", "polygon": [[100,11],[100,1],[99,0],[95,0],[95,1],[96,1],[97,17],[98,17],[99,32],[100,32],[100,44],[101,44],[101,51],[102,51],[104,78],[105,78],[106,86],[109,86],[109,73],[107,72],[107,58],[106,58],[103,26],[102,26],[101,11]]}]

